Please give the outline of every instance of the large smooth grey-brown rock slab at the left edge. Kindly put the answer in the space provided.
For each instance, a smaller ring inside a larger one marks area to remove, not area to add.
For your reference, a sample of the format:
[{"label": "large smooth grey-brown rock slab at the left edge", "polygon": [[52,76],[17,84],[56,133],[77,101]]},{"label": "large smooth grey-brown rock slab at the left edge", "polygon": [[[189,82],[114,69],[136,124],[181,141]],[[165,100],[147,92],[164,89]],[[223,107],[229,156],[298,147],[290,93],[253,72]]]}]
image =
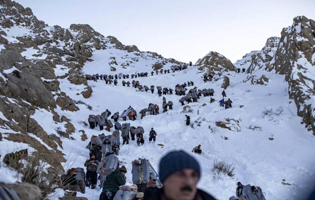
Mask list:
[{"label": "large smooth grey-brown rock slab at the left edge", "polygon": [[0,53],[0,94],[18,100],[26,100],[40,108],[55,108],[53,95],[46,89],[34,63],[27,61],[20,53],[12,49],[3,49]]}]

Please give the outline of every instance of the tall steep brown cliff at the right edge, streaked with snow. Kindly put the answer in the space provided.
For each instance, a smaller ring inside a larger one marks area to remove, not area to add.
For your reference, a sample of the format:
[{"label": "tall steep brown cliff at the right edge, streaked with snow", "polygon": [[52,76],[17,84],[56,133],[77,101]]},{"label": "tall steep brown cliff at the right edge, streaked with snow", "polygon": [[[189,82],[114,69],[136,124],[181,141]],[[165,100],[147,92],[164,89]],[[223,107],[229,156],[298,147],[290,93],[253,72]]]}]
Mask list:
[{"label": "tall steep brown cliff at the right edge, streaked with snow", "polygon": [[268,70],[275,70],[285,75],[289,84],[289,97],[294,99],[297,115],[315,135],[315,118],[312,112],[315,103],[315,21],[304,16],[295,17],[293,25],[284,28],[278,49],[268,65]]}]

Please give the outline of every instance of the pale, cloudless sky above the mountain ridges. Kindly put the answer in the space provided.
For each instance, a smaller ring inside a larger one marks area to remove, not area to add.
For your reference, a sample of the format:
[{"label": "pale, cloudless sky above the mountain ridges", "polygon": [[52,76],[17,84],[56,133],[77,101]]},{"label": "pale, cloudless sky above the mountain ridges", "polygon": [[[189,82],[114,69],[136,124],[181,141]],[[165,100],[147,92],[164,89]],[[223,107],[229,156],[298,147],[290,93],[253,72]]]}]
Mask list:
[{"label": "pale, cloudless sky above the mountain ridges", "polygon": [[63,28],[89,24],[104,36],[166,58],[195,63],[209,51],[235,63],[261,50],[293,18],[315,20],[315,0],[17,0]]}]

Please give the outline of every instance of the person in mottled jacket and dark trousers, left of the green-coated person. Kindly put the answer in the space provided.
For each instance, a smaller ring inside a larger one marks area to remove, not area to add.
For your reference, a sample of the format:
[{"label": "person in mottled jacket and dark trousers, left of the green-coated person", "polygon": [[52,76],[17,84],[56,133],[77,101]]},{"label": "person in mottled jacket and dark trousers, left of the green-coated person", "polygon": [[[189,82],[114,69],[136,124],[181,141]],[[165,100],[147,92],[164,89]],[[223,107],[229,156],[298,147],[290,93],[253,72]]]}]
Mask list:
[{"label": "person in mottled jacket and dark trousers, left of the green-coated person", "polygon": [[92,155],[90,159],[85,161],[84,166],[86,167],[86,180],[87,184],[86,186],[90,187],[90,184],[92,185],[91,189],[95,189],[97,184],[97,173],[96,169],[99,162],[95,159],[95,155]]}]

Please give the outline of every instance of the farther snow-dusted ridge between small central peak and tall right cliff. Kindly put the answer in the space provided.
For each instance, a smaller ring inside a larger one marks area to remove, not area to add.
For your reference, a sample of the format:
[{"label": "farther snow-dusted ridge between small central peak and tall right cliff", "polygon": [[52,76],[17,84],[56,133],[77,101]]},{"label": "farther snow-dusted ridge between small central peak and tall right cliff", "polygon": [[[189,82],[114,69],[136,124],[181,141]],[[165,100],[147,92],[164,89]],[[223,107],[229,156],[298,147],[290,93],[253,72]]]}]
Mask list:
[{"label": "farther snow-dusted ridge between small central peak and tall right cliff", "polygon": [[268,38],[266,45],[261,49],[261,51],[252,51],[247,53],[242,59],[236,61],[234,65],[240,69],[245,68],[246,72],[250,74],[259,69],[265,69],[276,53],[279,41],[279,37]]}]

